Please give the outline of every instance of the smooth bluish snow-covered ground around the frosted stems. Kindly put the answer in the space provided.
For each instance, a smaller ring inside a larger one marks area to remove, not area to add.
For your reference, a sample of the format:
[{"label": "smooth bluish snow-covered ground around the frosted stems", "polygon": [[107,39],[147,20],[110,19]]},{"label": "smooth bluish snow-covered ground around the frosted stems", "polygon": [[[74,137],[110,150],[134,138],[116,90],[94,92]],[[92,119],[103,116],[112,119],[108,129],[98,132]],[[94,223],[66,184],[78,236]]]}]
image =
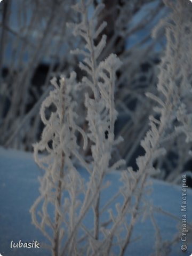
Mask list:
[{"label": "smooth bluish snow-covered ground around the frosted stems", "polygon": [[[34,162],[33,155],[15,150],[5,150],[0,148],[0,253],[3,256],[30,256],[41,255],[49,256],[51,253],[45,249],[11,249],[11,241],[39,243],[45,241],[41,231],[37,230],[31,224],[29,213],[30,206],[38,196],[39,183],[37,177],[41,171]],[[84,178],[87,174],[84,172]],[[118,174],[110,174],[107,178],[113,184],[102,200],[107,199],[108,193],[118,189]],[[113,191],[112,191],[113,190]],[[162,181],[154,181],[154,190],[151,194],[151,200],[157,207],[162,207],[175,217],[181,219],[181,186],[173,186]],[[192,221],[192,191],[187,189],[187,221]],[[156,221],[161,228],[163,240],[171,240],[177,233],[177,226],[181,226],[181,220],[169,217],[169,215],[156,213]],[[89,217],[90,220],[92,216]],[[89,220],[87,220],[89,223]],[[145,222],[139,221],[134,228],[133,238],[139,237],[133,241],[127,249],[127,256],[149,256],[153,251],[155,243],[155,231],[149,219]],[[191,235],[190,235],[191,237]],[[182,252],[180,246],[182,242],[172,247],[171,256],[189,256],[192,253],[192,241],[188,234],[186,252]],[[118,255],[118,254],[117,254]],[[166,255],[163,255],[166,256]]]}]

